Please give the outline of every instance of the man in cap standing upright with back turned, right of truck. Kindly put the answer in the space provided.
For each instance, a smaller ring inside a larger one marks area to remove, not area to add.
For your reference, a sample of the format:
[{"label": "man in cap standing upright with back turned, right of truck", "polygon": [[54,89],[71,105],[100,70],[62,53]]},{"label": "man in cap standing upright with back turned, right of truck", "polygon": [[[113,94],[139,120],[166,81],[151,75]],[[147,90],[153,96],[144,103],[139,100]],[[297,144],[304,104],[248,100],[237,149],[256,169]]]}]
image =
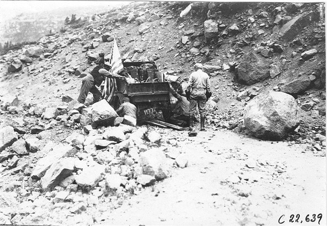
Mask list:
[{"label": "man in cap standing upright with back turned, right of truck", "polygon": [[193,130],[193,118],[198,105],[200,113],[201,130],[204,131],[205,107],[207,99],[211,96],[209,75],[202,71],[202,64],[194,65],[195,72],[192,72],[186,89],[187,99],[190,101],[190,130]]}]

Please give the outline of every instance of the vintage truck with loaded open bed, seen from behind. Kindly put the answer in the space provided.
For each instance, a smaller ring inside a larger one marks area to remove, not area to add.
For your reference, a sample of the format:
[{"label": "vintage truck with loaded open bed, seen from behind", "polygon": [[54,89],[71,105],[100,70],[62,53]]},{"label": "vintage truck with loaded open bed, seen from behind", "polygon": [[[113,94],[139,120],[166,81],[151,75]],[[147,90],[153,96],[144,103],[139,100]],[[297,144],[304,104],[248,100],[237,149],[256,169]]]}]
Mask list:
[{"label": "vintage truck with loaded open bed, seen from behind", "polygon": [[[149,64],[152,68],[144,69],[144,65]],[[163,117],[169,119],[177,99],[172,95],[167,79],[176,89],[181,77],[169,75],[165,78],[154,61],[123,62],[123,66],[129,78],[115,78],[117,90],[109,100],[114,109],[119,108],[124,97],[129,97],[130,102],[137,107],[140,118],[156,115],[161,110]]]}]

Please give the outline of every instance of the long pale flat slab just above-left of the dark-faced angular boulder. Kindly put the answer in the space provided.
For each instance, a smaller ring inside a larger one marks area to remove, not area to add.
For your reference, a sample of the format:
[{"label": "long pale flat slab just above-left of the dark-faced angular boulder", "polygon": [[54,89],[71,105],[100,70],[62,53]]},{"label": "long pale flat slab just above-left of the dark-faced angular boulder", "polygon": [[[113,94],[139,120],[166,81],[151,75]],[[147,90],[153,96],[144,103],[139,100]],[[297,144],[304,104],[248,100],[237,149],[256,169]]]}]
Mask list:
[{"label": "long pale flat slab just above-left of the dark-faced angular boulder", "polygon": [[45,157],[39,159],[31,173],[31,178],[33,180],[39,180],[42,178],[52,163],[58,161],[60,158],[69,157],[70,155],[77,153],[77,149],[70,145],[58,144],[53,147],[53,144],[51,143],[42,149],[42,153],[46,151],[49,151],[49,153]]}]

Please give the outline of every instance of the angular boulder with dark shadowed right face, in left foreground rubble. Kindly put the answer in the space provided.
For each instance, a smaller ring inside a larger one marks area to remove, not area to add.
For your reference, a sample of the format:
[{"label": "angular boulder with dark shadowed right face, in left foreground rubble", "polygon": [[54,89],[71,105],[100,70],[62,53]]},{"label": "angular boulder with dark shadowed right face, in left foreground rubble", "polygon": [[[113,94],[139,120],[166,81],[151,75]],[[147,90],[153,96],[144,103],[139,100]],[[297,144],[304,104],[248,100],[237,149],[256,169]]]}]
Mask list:
[{"label": "angular boulder with dark shadowed right face, in left foreground rubble", "polygon": [[70,176],[74,170],[74,161],[72,158],[59,159],[53,163],[42,178],[42,188],[52,189],[63,179]]}]

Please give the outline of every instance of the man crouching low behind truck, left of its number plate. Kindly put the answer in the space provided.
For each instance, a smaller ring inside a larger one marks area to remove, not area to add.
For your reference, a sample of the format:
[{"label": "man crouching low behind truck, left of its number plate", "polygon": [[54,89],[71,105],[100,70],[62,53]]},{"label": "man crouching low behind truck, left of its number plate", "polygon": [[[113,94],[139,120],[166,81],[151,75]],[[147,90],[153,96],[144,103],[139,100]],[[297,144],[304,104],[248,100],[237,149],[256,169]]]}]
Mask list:
[{"label": "man crouching low behind truck, left of its number plate", "polygon": [[137,108],[134,104],[129,102],[128,97],[123,98],[123,103],[116,110],[116,113],[119,116],[124,117],[123,124],[133,127],[136,126]]}]

